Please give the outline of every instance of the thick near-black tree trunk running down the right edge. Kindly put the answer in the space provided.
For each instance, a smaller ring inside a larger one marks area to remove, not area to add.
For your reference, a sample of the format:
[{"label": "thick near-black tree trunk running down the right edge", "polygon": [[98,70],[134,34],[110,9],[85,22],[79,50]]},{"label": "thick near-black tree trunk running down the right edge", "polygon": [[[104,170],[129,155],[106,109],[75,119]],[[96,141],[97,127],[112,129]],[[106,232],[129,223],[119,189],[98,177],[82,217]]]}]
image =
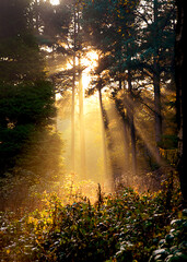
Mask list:
[{"label": "thick near-black tree trunk running down the right edge", "polygon": [[182,194],[187,203],[187,174],[185,174],[185,143],[184,128],[185,122],[185,0],[176,0],[177,5],[177,26],[176,26],[176,46],[175,46],[175,78],[177,96],[177,122],[178,122],[178,172],[180,179]]}]

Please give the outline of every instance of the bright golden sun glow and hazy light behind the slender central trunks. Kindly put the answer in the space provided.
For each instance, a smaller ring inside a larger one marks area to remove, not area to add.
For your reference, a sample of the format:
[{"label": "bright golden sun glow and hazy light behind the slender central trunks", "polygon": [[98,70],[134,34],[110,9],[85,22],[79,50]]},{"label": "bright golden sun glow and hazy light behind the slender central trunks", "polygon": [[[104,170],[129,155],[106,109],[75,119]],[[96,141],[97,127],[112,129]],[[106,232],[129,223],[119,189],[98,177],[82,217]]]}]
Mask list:
[{"label": "bright golden sun glow and hazy light behind the slender central trunks", "polygon": [[[74,170],[78,176],[78,180],[84,180],[85,174],[82,171],[81,166],[81,154],[82,152],[82,136],[81,130],[84,132],[85,140],[85,171],[86,177],[90,181],[101,183],[105,191],[110,191],[110,172],[107,169],[106,174],[106,157],[104,157],[105,141],[104,141],[104,128],[102,121],[102,114],[100,107],[98,93],[90,97],[85,97],[84,91],[89,87],[92,80],[91,72],[97,66],[98,53],[96,51],[89,51],[81,57],[82,71],[82,107],[80,106],[80,93],[79,83],[77,83],[75,88],[75,103],[74,103],[74,123],[75,123],[75,159],[74,159]],[[75,64],[78,66],[78,57],[75,59]],[[66,69],[72,69],[72,60],[67,60]],[[59,97],[60,98],[60,97]],[[80,121],[80,110],[83,114],[83,122]],[[66,152],[63,153],[65,165],[69,172],[72,172],[71,167],[71,92],[70,96],[61,96],[61,102],[58,104],[58,118],[57,118],[57,129],[62,133],[66,141]],[[86,192],[87,195],[87,192]]]}]

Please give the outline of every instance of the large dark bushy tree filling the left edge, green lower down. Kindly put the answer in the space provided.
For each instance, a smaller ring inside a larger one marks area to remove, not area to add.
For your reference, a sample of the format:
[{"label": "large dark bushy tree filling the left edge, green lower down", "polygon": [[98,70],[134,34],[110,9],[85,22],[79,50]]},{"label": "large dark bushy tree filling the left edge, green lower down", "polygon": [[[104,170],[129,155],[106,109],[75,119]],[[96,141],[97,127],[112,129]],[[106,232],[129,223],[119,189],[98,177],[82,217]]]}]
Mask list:
[{"label": "large dark bushy tree filling the left edge, green lower down", "polygon": [[1,175],[15,165],[30,135],[51,123],[55,116],[54,87],[46,81],[44,59],[27,20],[30,4],[0,2]]}]

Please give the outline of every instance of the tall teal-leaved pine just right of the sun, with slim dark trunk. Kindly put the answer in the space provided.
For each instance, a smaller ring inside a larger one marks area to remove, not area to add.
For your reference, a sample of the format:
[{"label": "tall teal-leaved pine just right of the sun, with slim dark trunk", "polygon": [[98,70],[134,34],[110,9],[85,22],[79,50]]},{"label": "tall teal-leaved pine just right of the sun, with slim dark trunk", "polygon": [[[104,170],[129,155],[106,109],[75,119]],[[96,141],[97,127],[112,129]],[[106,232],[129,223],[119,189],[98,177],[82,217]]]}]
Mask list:
[{"label": "tall teal-leaved pine just right of the sun, with slim dark trunk", "polygon": [[[90,44],[93,48],[101,52],[98,82],[101,82],[102,74],[105,85],[108,85],[113,98],[116,103],[116,108],[122,116],[125,133],[127,133],[126,124],[129,123],[131,136],[131,152],[132,152],[132,172],[136,174],[136,135],[133,126],[133,109],[132,103],[124,105],[121,99],[118,99],[121,92],[122,81],[125,80],[127,70],[129,72],[129,99],[132,99],[132,85],[131,85],[131,59],[133,56],[133,32],[135,32],[135,10],[139,1],[133,1],[127,4],[126,1],[87,1],[83,9],[83,20],[85,21],[84,31]],[[108,74],[108,76],[106,76]],[[118,87],[115,82],[118,83]],[[114,85],[112,85],[114,83]],[[98,88],[100,96],[101,87]],[[127,103],[127,100],[126,100]],[[128,117],[125,117],[125,107],[128,110]],[[103,117],[106,118],[106,116]],[[127,119],[128,118],[128,121]],[[106,124],[105,124],[106,126]],[[107,130],[108,132],[108,130]],[[109,143],[113,143],[112,141]],[[127,160],[127,159],[126,159]],[[112,160],[113,162],[113,160]]]}]

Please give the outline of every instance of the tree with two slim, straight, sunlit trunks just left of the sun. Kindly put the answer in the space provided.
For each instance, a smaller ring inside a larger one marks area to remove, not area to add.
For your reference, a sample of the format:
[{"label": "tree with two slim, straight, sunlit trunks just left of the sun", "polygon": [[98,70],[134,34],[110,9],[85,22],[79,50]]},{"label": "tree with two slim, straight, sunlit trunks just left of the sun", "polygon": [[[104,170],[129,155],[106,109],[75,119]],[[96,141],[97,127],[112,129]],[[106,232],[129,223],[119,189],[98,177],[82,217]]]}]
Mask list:
[{"label": "tree with two slim, straight, sunlit trunks just left of the sun", "polygon": [[[80,148],[81,148],[81,174],[85,175],[85,142],[84,142],[84,119],[83,119],[83,85],[82,85],[82,71],[81,64],[83,47],[82,47],[82,4],[83,1],[61,1],[56,8],[51,4],[44,2],[40,8],[40,24],[43,33],[38,36],[43,40],[44,45],[52,47],[52,57],[62,55],[65,61],[68,60],[72,66],[71,69],[58,70],[52,72],[51,79],[56,84],[56,92],[63,93],[67,90],[72,90],[72,105],[71,105],[71,168],[74,171],[75,168],[75,95],[79,93],[79,111],[80,111]],[[48,21],[48,13],[50,20]],[[61,13],[61,15],[60,15]],[[54,17],[54,20],[52,20]],[[54,22],[55,23],[54,23]],[[50,26],[49,26],[50,24]],[[54,31],[51,32],[51,25]],[[48,29],[50,27],[50,29]],[[49,32],[49,33],[48,33]],[[52,41],[45,41],[45,39],[52,39]],[[77,62],[78,60],[78,62]],[[60,84],[58,84],[60,83]]]}]

